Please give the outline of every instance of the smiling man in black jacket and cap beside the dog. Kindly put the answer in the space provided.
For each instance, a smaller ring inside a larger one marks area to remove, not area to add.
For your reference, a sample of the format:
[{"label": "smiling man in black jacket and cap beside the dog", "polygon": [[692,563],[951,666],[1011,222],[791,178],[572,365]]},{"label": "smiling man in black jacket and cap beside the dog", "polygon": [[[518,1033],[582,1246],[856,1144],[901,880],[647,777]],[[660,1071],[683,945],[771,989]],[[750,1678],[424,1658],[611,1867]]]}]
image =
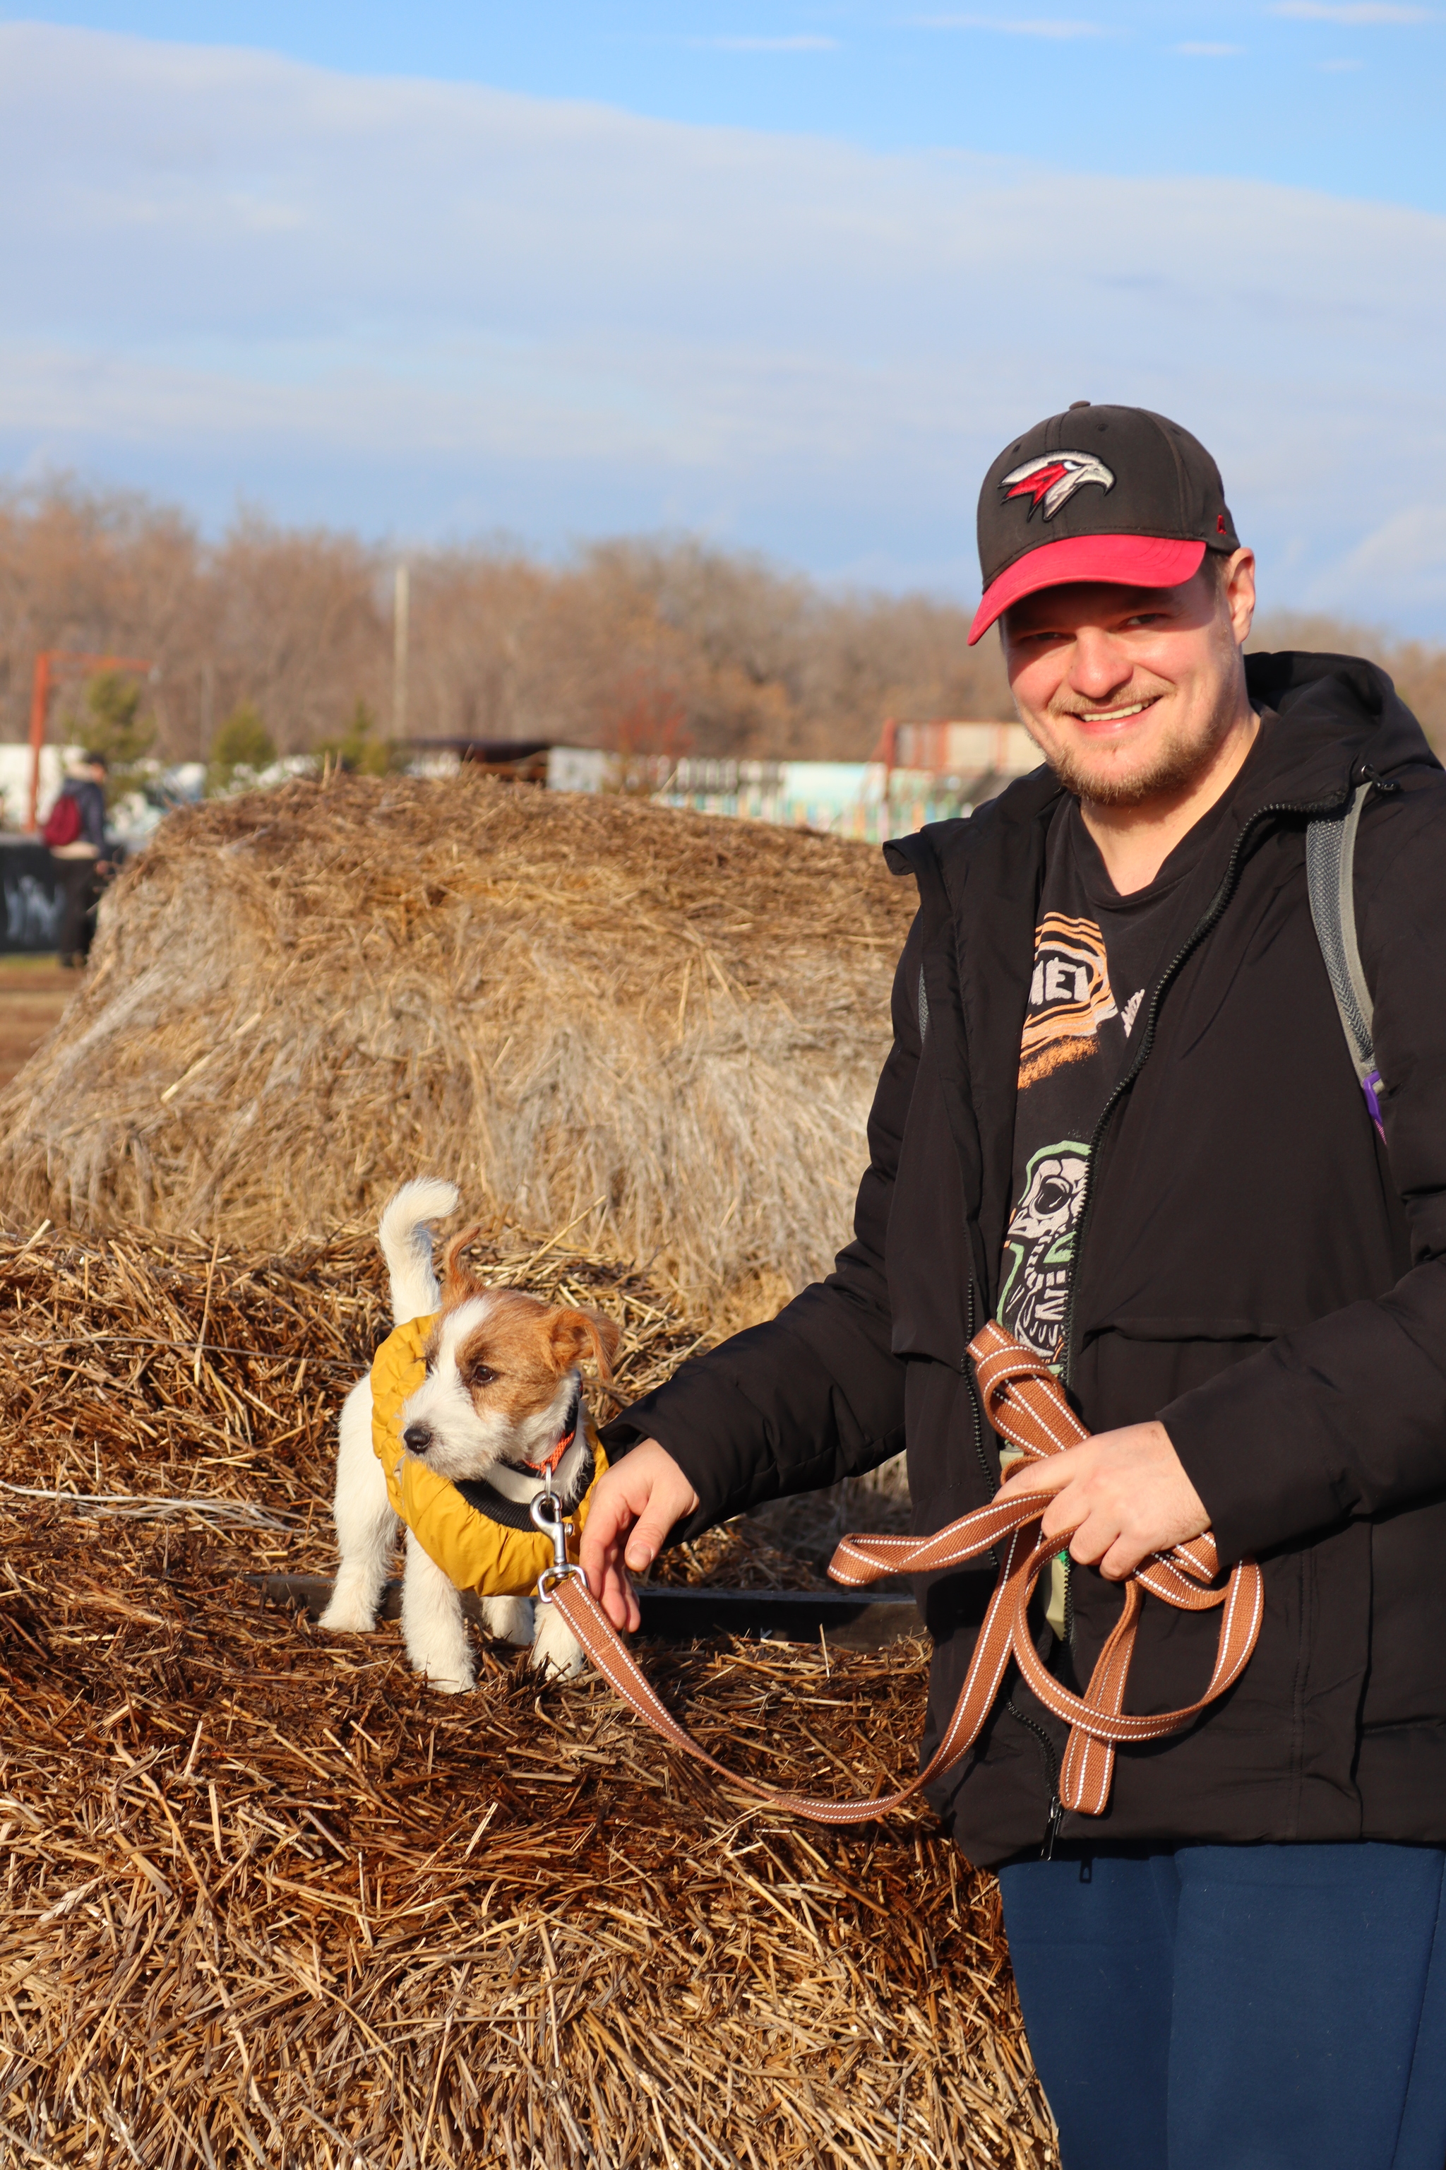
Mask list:
[{"label": "smiling man in black jacket and cap beside the dog", "polygon": [[[1446,2159],[1446,777],[1390,679],[1242,655],[1255,566],[1175,423],[1080,401],[980,497],[984,599],[1047,766],[889,846],[919,883],[854,1241],[622,1417],[583,1567],[908,1445],[919,1534],[984,1504],[965,1345],[999,1317],[1095,1434],[1019,1469],[1073,1530],[1038,1649],[1080,1690],[1149,1552],[1260,1558],[1240,1682],[1060,1814],[1010,1671],[934,1805],[999,1866],[1064,2170]],[[1357,855],[1383,1135],[1312,924]],[[993,1573],[921,1588],[926,1753]],[[1192,1703],[1218,1614],[1145,1601],[1127,1708]]]}]

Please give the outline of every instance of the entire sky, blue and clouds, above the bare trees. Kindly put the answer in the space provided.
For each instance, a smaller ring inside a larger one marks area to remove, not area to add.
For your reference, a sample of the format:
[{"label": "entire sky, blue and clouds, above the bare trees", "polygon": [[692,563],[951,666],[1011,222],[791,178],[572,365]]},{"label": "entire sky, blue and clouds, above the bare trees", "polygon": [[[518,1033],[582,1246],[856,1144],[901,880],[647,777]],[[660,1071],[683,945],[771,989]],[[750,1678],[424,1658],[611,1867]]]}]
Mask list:
[{"label": "entire sky, blue and clouds, above the bare trees", "polygon": [[1446,634],[1446,7],[0,7],[0,471],[967,599],[1075,397]]}]

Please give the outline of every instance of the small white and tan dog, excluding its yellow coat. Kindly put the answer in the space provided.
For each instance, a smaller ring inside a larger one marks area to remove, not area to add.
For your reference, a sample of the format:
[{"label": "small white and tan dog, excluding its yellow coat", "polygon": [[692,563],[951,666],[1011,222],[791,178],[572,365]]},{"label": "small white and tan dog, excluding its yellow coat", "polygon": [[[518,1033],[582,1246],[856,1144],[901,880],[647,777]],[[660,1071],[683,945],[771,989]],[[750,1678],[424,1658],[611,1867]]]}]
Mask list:
[{"label": "small white and tan dog, excluding its yellow coat", "polygon": [[[460,1265],[477,1235],[468,1228],[447,1246],[438,1287],[431,1222],[457,1209],[455,1183],[405,1183],[382,1213],[392,1319],[401,1326],[440,1313],[427,1337],[427,1376],[401,1408],[401,1445],[442,1478],[466,1484],[496,1521],[531,1530],[527,1506],[553,1486],[564,1512],[592,1476],[588,1408],[579,1356],[592,1352],[605,1384],[618,1326],[596,1311],[551,1309],[520,1289],[488,1289]],[[336,1454],[336,1539],[340,1569],[323,1628],[369,1632],[377,1623],[382,1586],[397,1549],[395,1512],[382,1463],[371,1443],[371,1376],[360,1378],[340,1413]],[[561,1452],[559,1452],[561,1450]],[[527,1597],[481,1593],[483,1628],[507,1643],[531,1643],[533,1664],[570,1680],[583,1654],[561,1614],[544,1608],[533,1632]],[[423,1552],[405,1541],[401,1632],[414,1671],[434,1688],[460,1695],[477,1677],[462,1595]]]}]

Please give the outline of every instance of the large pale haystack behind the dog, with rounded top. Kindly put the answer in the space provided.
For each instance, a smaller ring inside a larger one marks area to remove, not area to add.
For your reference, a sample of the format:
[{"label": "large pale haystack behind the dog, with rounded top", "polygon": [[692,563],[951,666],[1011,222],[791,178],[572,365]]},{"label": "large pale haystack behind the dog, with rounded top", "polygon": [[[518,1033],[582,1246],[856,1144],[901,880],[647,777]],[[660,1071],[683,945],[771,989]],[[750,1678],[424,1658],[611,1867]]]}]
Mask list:
[{"label": "large pale haystack behind the dog, with rounded top", "polygon": [[0,1100],[0,1202],[280,1243],[434,1172],[737,1315],[848,1233],[911,890],[466,775],[176,814]]}]

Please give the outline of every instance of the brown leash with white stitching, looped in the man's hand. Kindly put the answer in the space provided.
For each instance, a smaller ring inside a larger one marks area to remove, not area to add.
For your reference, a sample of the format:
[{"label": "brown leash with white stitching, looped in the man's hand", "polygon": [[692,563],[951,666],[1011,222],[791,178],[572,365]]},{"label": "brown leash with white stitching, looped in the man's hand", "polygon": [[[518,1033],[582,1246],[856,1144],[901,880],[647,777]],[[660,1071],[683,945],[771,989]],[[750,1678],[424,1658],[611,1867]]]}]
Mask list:
[{"label": "brown leash with white stitching, looped in the man's hand", "polygon": [[[1049,1367],[1006,1335],[1002,1326],[991,1324],[976,1335],[969,1354],[989,1421],[1030,1460],[1062,1454],[1090,1437]],[[1060,1771],[1060,1805],[1084,1816],[1099,1816],[1110,1799],[1116,1745],[1158,1740],[1162,1734],[1177,1732],[1240,1677],[1260,1634],[1264,1584],[1255,1560],[1240,1560],[1225,1586],[1212,1588],[1221,1562],[1210,1532],[1188,1545],[1175,1545],[1173,1552],[1151,1554],[1125,1582],[1123,1612],[1095,1662],[1088,1688],[1084,1695],[1071,1695],[1041,1664],[1028,1621],[1030,1597],[1043,1567],[1073,1534],[1041,1536],[1038,1523],[1047,1504],[1047,1493],[1010,1493],[976,1508],[973,1515],[963,1515],[934,1536],[845,1536],[828,1562],[835,1582],[861,1588],[882,1575],[928,1575],[945,1567],[960,1567],[982,1552],[1002,1547],[999,1580],[989,1599],[969,1675],[943,1740],[908,1786],[872,1801],[826,1801],[785,1792],[741,1777],[709,1756],[648,1686],[622,1636],[592,1597],[581,1569],[566,1565],[566,1541],[551,1517],[540,1528],[555,1530],[561,1558],[538,1584],[538,1595],[544,1604],[557,1606],[603,1677],[663,1740],[707,1764],[731,1786],[741,1786],[744,1792],[767,1801],[770,1808],[806,1816],[813,1823],[867,1823],[872,1816],[885,1816],[930,1779],[952,1769],[973,1747],[1012,1658],[1045,1710],[1069,1725],[1069,1747]],[[1210,1686],[1197,1703],[1188,1703],[1184,1710],[1162,1710],[1153,1716],[1136,1716],[1123,1708],[1145,1591],[1184,1612],[1223,1608]]]}]

